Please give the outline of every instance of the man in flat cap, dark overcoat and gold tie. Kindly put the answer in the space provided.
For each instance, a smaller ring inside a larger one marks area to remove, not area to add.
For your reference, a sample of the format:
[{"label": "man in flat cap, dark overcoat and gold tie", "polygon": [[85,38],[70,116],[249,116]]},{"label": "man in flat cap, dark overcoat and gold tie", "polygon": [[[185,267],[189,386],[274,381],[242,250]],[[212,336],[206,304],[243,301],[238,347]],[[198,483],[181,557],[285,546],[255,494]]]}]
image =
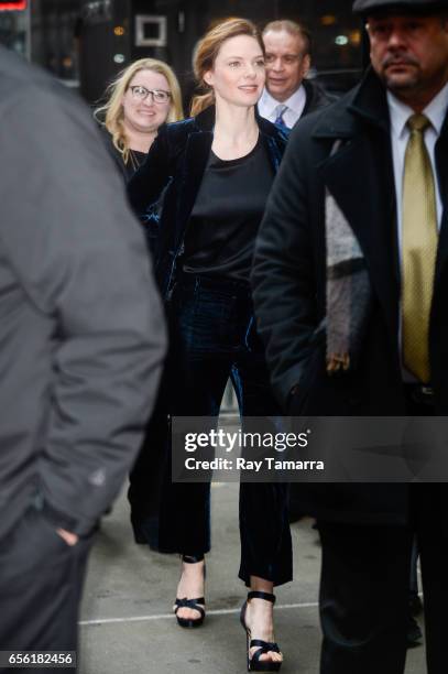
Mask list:
[{"label": "man in flat cap, dark overcoat and gold tie", "polygon": [[[293,130],[254,257],[272,380],[296,416],[448,414],[448,0],[357,0],[371,65]],[[448,491],[303,485],[323,543],[321,674],[402,674],[412,542],[445,674]]]}]

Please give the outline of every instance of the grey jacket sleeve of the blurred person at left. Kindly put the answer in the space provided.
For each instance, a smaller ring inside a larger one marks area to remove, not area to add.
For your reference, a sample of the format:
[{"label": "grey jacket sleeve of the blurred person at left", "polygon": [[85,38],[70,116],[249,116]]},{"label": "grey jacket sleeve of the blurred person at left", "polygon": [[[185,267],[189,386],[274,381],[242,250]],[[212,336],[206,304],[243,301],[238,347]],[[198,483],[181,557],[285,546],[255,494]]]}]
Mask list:
[{"label": "grey jacket sleeve of the blurred person at left", "polygon": [[0,134],[1,246],[52,326],[40,485],[58,523],[83,534],[139,449],[165,350],[161,302],[141,228],[87,109],[50,87],[22,87]]}]

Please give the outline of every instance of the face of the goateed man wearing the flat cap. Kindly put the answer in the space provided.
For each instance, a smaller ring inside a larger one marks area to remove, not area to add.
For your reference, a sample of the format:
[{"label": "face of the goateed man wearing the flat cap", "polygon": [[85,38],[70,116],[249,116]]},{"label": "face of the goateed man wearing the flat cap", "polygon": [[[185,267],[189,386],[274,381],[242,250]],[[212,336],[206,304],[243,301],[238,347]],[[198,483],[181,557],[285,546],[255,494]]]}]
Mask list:
[{"label": "face of the goateed man wearing the flat cap", "polygon": [[412,108],[425,108],[448,81],[448,21],[374,15],[368,31],[372,66],[387,89]]}]

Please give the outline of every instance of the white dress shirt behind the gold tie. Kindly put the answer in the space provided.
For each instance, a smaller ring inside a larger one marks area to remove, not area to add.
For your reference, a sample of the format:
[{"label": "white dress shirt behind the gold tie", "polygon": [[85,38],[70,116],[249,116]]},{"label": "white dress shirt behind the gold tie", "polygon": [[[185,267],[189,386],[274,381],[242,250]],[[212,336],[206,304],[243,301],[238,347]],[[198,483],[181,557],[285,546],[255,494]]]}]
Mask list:
[{"label": "white dress shirt behind the gold tie", "polygon": [[[393,94],[391,94],[391,91],[387,91],[387,104],[391,117],[391,141],[395,180],[398,251],[400,263],[402,263],[404,159],[407,148],[407,141],[409,140],[411,135],[411,131],[407,127],[407,120],[414,115],[414,110],[401,100],[398,100]],[[440,134],[447,111],[448,84],[445,85],[445,87],[437,94],[437,96],[433,98],[430,104],[423,110],[423,115],[425,115],[430,121],[430,127],[426,129],[424,139],[433,165],[433,173],[435,176],[434,183],[436,191],[437,222],[439,229],[441,225],[442,203],[439,184],[437,181],[435,146],[437,139]],[[400,329],[400,333],[402,333],[402,328]],[[400,334],[400,344],[402,340],[401,337],[402,335]],[[415,381],[415,378],[404,368],[403,379],[404,381]]]}]

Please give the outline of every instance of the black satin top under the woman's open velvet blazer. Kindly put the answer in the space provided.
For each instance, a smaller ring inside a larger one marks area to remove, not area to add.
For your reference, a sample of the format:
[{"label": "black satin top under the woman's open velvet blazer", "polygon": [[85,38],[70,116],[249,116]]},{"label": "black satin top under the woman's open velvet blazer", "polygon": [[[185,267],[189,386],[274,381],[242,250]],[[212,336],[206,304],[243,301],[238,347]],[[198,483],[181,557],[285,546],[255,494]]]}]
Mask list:
[{"label": "black satin top under the woman's open velvet blazer", "polygon": [[274,172],[262,142],[236,160],[210,152],[185,239],[186,273],[249,282]]}]

